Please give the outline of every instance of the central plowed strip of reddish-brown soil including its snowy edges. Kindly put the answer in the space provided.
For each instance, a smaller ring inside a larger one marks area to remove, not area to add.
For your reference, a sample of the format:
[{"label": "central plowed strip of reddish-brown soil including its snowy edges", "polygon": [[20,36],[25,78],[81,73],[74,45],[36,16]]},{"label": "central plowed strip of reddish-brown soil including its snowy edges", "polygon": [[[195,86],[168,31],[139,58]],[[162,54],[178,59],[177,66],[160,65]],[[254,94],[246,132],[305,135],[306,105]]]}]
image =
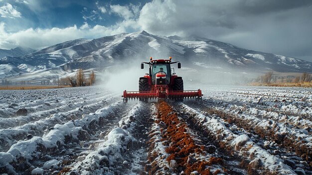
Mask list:
[{"label": "central plowed strip of reddish-brown soil including its snowy edges", "polygon": [[189,127],[178,108],[160,102],[156,105],[154,120],[150,132],[150,165],[146,167],[149,174],[228,172],[216,147]]}]

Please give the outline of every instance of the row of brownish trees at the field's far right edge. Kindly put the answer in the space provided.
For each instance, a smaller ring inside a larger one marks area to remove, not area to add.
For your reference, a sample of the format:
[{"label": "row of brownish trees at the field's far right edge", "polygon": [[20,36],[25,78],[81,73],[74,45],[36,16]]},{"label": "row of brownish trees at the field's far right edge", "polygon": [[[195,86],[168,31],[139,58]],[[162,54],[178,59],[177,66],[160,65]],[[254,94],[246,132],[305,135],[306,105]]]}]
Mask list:
[{"label": "row of brownish trees at the field's far right edge", "polygon": [[304,83],[304,82],[311,82],[312,76],[311,74],[304,72],[301,76],[274,76],[273,71],[267,72],[265,75],[258,76],[255,79],[256,83],[264,83],[269,84],[272,82],[277,83],[280,80],[281,83]]}]

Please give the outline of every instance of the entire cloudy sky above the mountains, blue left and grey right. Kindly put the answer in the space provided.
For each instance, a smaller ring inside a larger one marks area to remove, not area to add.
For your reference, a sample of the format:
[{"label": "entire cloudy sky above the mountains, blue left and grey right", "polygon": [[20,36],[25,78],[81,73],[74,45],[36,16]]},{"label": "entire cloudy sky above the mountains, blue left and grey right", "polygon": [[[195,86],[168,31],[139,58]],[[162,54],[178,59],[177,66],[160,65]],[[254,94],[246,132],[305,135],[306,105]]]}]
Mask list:
[{"label": "entire cloudy sky above the mountains, blue left and grey right", "polygon": [[146,30],[312,62],[312,0],[0,0],[0,48]]}]

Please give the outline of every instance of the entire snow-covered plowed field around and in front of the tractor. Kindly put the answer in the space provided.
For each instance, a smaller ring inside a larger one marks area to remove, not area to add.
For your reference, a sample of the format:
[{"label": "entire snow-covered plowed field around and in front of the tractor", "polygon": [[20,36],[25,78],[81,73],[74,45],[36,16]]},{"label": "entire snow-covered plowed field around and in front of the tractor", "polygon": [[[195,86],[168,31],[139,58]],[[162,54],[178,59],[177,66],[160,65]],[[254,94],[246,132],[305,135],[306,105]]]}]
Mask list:
[{"label": "entire snow-covered plowed field around and in front of the tractor", "polygon": [[193,85],[122,102],[99,86],[0,91],[0,174],[312,174],[312,89]]}]

